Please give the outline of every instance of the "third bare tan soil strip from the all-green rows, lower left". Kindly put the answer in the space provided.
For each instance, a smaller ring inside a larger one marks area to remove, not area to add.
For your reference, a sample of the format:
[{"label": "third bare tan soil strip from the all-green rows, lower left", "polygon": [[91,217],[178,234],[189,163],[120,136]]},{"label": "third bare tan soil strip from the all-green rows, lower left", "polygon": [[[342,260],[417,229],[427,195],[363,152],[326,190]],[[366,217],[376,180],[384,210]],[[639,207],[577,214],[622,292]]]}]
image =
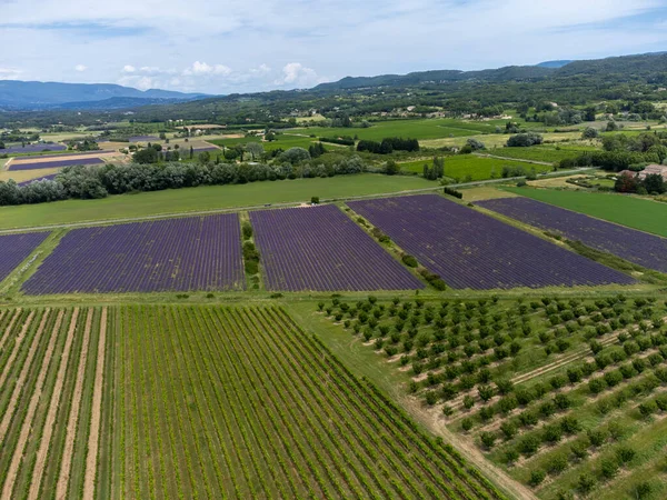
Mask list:
[{"label": "third bare tan soil strip from the all-green rows, lower left", "polygon": [[79,308],[74,308],[72,319],[70,321],[69,331],[67,333],[67,340],[64,341],[64,348],[62,350],[62,357],[60,359],[60,368],[58,368],[58,376],[56,377],[56,383],[53,386],[53,394],[49,402],[49,411],[47,413],[47,420],[44,421],[44,433],[42,434],[41,442],[39,443],[39,450],[37,452],[37,459],[34,461],[34,470],[32,471],[32,482],[30,483],[30,491],[28,492],[29,500],[39,499],[39,489],[41,487],[41,480],[47,463],[47,456],[49,452],[49,443],[51,442],[51,436],[53,434],[53,427],[56,424],[56,413],[60,406],[60,393],[62,392],[62,386],[64,384],[64,373],[67,371],[68,360],[70,356],[70,348],[74,339],[74,329],[77,327],[77,319],[79,318]]}]

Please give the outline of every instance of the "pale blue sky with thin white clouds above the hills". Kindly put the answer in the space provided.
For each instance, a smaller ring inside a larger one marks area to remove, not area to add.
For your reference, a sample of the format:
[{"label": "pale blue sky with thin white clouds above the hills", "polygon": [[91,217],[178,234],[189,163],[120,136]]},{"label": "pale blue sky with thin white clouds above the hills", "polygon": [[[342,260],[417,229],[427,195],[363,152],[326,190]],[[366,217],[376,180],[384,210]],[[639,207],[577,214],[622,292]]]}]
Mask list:
[{"label": "pale blue sky with thin white clouds above the hills", "polygon": [[0,80],[227,94],[667,50],[667,0],[0,0]]}]

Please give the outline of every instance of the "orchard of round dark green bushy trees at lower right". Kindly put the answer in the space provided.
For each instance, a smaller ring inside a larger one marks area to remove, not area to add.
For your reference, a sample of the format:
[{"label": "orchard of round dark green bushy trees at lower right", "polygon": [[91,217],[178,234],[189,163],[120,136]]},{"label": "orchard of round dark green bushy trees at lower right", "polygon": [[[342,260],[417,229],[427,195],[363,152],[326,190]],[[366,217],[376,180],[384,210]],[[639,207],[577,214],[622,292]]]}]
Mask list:
[{"label": "orchard of round dark green bushy trees at lower right", "polygon": [[665,498],[667,301],[335,298],[316,313],[538,497]]}]

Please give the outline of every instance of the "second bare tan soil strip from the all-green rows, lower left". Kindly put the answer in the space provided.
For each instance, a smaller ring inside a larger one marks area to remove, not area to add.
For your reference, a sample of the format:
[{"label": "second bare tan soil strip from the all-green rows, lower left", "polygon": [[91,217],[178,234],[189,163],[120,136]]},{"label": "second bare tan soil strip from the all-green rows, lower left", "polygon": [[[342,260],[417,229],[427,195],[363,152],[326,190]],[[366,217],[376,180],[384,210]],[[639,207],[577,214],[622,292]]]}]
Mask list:
[{"label": "second bare tan soil strip from the all-green rows, lower left", "polygon": [[88,344],[90,343],[90,328],[92,326],[92,309],[88,310],[86,318],[86,330],[83,331],[83,343],[81,346],[81,357],[79,360],[79,371],[74,383],[72,394],[72,408],[70,409],[69,420],[67,422],[67,434],[64,437],[64,449],[62,450],[62,460],[60,462],[60,477],[56,487],[56,499],[67,498],[69,487],[70,469],[72,467],[72,456],[74,454],[74,438],[77,437],[77,422],[79,421],[79,409],[81,408],[81,397],[83,396],[83,376],[86,374],[86,362],[88,361]]}]

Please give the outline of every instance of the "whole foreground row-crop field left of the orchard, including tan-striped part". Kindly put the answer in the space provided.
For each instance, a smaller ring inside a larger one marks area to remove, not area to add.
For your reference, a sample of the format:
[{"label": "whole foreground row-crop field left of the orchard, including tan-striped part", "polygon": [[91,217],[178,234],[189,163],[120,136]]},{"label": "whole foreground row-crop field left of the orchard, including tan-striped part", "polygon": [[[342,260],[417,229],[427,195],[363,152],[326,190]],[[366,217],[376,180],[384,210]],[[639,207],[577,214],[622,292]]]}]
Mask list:
[{"label": "whole foreground row-crop field left of the orchard, including tan-striped part", "polygon": [[280,308],[0,326],[2,498],[504,498]]}]

